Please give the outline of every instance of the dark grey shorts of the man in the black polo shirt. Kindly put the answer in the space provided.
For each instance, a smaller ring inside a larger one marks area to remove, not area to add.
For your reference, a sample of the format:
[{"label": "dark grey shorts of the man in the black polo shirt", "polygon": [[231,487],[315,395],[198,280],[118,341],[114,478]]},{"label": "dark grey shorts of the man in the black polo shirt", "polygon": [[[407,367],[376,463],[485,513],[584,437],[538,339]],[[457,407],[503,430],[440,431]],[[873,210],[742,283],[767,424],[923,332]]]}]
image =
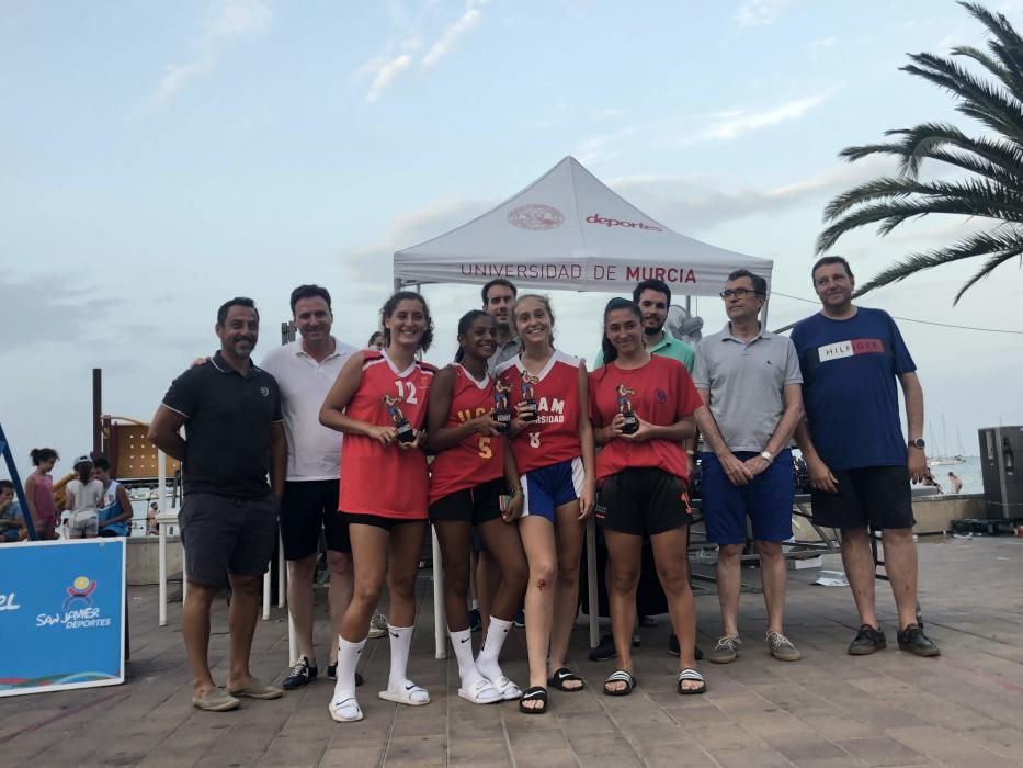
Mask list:
[{"label": "dark grey shorts of the man in the black polo shirt", "polygon": [[178,524],[189,581],[219,587],[227,574],[266,573],[277,540],[277,500],[273,494],[260,498],[187,494]]}]

